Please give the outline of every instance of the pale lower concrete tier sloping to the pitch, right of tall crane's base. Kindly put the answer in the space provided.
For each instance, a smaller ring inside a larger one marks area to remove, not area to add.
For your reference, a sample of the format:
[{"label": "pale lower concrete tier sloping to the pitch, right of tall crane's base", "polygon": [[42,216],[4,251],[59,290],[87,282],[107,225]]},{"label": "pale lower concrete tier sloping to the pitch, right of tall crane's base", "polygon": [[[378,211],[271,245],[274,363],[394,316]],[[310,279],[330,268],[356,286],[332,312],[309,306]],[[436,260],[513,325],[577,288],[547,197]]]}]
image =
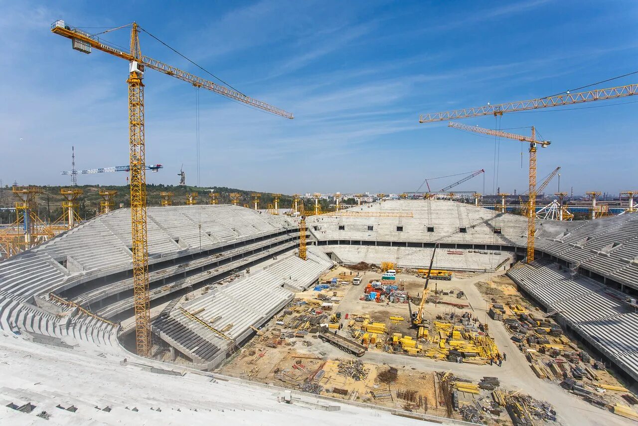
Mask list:
[{"label": "pale lower concrete tier sloping to the pitch, right of tall crane's base", "polygon": [[[255,328],[293,300],[294,293],[289,289],[307,289],[334,266],[317,247],[308,247],[306,261],[292,252],[281,257],[262,269],[251,270],[228,284],[214,285],[208,293],[174,306],[154,321],[154,333],[173,348],[173,354],[176,350],[186,355],[199,369],[214,369],[253,335]],[[184,310],[216,331],[189,318]]]}]

